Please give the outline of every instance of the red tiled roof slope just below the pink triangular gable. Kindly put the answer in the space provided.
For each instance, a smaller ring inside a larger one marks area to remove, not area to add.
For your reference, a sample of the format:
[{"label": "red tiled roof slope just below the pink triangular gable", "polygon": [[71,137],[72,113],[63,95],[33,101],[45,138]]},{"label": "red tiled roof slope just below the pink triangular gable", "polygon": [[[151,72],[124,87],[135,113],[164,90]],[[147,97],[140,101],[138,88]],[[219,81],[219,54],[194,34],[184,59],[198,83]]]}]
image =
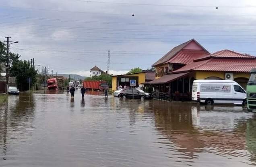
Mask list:
[{"label": "red tiled roof slope just below the pink triangular gable", "polygon": [[202,58],[207,55],[209,55],[209,53],[204,50],[182,50],[166,63],[190,64],[194,59]]}]

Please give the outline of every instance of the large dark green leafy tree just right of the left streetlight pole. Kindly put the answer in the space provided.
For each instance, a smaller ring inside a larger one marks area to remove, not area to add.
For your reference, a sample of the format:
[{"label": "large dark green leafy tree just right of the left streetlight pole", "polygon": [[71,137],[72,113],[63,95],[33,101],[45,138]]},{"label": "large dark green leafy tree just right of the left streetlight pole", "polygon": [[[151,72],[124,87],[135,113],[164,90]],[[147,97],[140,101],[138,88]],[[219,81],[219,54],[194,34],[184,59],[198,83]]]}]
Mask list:
[{"label": "large dark green leafy tree just right of the left streetlight pole", "polygon": [[10,67],[10,76],[16,77],[17,87],[21,91],[27,91],[29,89],[29,83],[27,82],[28,78],[32,79],[31,85],[36,82],[37,70],[35,67],[31,66],[30,61],[16,59],[17,56],[14,56],[12,59],[12,66]]}]

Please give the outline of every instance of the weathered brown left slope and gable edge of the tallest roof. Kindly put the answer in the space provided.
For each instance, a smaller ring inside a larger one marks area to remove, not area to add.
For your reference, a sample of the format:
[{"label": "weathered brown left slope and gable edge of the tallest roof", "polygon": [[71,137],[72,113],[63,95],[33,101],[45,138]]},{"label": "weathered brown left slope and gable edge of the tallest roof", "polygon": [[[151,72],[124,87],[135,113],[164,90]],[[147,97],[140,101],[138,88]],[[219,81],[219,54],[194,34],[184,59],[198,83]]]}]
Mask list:
[{"label": "weathered brown left slope and gable edge of the tallest roof", "polygon": [[[170,58],[172,58],[173,56],[175,56],[178,52],[180,52],[180,50],[182,50],[182,48],[184,48],[185,46],[187,46],[190,42],[196,42],[199,46],[201,46],[196,40],[191,39],[187,42],[184,42],[183,44],[180,44],[178,46],[175,46],[172,50],[170,50],[167,54],[165,54],[162,58],[160,58],[157,62],[155,62],[152,66],[156,66],[158,64],[162,64],[164,62],[167,62]],[[202,46],[201,46],[202,47]],[[204,49],[204,47],[202,47],[202,49]],[[206,52],[208,52],[206,49],[204,49]]]}]

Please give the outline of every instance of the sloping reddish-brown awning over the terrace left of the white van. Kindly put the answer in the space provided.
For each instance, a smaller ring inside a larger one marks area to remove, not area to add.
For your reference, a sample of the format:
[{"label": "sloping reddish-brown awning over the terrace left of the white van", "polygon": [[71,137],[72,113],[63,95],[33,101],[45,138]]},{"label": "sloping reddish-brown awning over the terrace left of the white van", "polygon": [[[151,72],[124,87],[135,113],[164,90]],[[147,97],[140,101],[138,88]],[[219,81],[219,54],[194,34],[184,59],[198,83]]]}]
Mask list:
[{"label": "sloping reddish-brown awning over the terrace left of the white van", "polygon": [[178,74],[167,74],[167,75],[162,76],[161,78],[152,80],[150,82],[145,82],[144,84],[165,84],[165,83],[169,83],[173,80],[176,80],[178,78],[181,78],[189,73],[190,72],[183,72],[183,73],[178,73]]}]

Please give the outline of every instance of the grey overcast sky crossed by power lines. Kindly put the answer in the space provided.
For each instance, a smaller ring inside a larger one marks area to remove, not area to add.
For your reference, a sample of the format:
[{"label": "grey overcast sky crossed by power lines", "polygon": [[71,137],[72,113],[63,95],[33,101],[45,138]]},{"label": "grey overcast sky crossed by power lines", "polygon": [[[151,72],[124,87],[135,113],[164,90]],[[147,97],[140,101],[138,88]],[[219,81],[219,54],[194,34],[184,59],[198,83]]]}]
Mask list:
[{"label": "grey overcast sky crossed by power lines", "polygon": [[256,55],[255,0],[8,0],[0,17],[0,40],[19,40],[11,52],[59,74],[107,70],[108,49],[111,73],[147,69],[191,38]]}]

